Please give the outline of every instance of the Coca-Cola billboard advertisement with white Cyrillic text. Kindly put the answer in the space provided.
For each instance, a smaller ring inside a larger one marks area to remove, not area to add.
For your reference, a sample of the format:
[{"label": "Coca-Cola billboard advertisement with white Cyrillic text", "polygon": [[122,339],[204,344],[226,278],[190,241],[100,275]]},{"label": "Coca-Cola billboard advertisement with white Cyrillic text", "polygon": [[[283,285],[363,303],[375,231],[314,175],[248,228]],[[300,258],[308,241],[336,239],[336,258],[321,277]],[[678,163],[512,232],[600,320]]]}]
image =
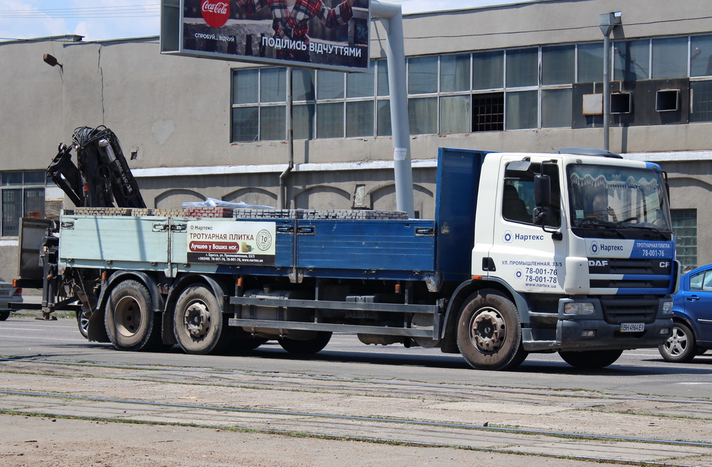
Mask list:
[{"label": "Coca-Cola billboard advertisement with white Cyrillic text", "polygon": [[220,60],[368,68],[370,0],[182,0],[182,53]]}]

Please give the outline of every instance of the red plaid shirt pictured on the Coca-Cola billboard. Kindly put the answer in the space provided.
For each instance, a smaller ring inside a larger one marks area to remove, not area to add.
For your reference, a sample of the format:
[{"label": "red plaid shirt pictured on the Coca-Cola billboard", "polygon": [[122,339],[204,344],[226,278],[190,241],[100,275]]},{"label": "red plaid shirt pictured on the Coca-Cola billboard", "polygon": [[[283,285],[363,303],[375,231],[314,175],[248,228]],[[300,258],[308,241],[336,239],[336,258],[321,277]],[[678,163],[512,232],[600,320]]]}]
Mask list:
[{"label": "red plaid shirt pictured on the Coca-Cola billboard", "polygon": [[335,29],[353,17],[353,11],[346,2],[330,9],[322,0],[296,0],[291,12],[284,0],[237,0],[237,6],[248,15],[268,7],[274,18],[272,28],[275,37],[306,42],[309,42],[307,33],[311,18],[319,18],[326,27]]}]

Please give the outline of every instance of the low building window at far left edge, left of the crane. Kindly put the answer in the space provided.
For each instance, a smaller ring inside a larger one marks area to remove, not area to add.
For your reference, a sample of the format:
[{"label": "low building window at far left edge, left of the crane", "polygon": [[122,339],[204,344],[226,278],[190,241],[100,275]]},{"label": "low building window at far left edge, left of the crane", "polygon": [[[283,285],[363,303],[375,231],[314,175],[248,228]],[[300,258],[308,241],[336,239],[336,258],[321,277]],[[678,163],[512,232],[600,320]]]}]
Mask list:
[{"label": "low building window at far left edge, left of the crane", "polygon": [[45,171],[2,172],[0,176],[0,236],[20,235],[20,218],[45,215]]}]

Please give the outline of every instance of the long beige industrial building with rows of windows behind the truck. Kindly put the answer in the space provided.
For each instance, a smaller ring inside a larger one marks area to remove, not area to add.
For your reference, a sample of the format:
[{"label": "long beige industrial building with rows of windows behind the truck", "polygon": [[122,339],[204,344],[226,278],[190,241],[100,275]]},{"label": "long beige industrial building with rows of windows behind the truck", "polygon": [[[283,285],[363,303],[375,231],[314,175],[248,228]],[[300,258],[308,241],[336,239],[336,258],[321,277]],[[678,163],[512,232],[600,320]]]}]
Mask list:
[{"label": "long beige industrial building with rows of windows behind the truck", "polygon": [[[434,215],[439,147],[604,145],[602,15],[609,149],[664,168],[679,259],[712,262],[712,16],[693,0],[404,16],[417,217]],[[0,43],[0,276],[16,275],[19,218],[68,207],[44,171],[76,127],[115,131],[150,208],[396,208],[384,37],[372,21],[367,73],[167,55],[159,37]]]}]

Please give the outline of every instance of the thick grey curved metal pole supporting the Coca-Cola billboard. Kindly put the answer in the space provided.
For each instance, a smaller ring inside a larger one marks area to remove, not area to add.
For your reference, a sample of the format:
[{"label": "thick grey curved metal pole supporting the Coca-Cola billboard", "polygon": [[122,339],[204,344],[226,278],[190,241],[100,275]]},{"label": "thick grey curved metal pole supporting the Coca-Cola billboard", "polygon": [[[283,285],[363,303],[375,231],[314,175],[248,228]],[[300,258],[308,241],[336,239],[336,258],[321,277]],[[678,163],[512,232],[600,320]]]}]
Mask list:
[{"label": "thick grey curved metal pole supporting the Coca-Cola billboard", "polygon": [[413,169],[408,121],[408,90],[403,46],[403,13],[401,6],[389,1],[371,0],[371,16],[383,19],[387,32],[386,57],[393,135],[393,166],[396,208],[413,218]]}]

